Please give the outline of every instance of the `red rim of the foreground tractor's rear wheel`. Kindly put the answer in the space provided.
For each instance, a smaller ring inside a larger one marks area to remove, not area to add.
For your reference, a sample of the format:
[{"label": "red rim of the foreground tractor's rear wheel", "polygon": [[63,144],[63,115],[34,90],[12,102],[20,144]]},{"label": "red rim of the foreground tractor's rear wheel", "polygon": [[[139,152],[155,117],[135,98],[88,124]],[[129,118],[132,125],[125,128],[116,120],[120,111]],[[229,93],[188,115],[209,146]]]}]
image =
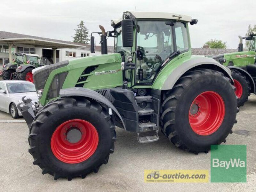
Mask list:
[{"label": "red rim of the foreground tractor's rear wheel", "polygon": [[213,91],[206,91],[196,97],[189,109],[189,124],[198,135],[216,132],[225,116],[222,97]]}]

